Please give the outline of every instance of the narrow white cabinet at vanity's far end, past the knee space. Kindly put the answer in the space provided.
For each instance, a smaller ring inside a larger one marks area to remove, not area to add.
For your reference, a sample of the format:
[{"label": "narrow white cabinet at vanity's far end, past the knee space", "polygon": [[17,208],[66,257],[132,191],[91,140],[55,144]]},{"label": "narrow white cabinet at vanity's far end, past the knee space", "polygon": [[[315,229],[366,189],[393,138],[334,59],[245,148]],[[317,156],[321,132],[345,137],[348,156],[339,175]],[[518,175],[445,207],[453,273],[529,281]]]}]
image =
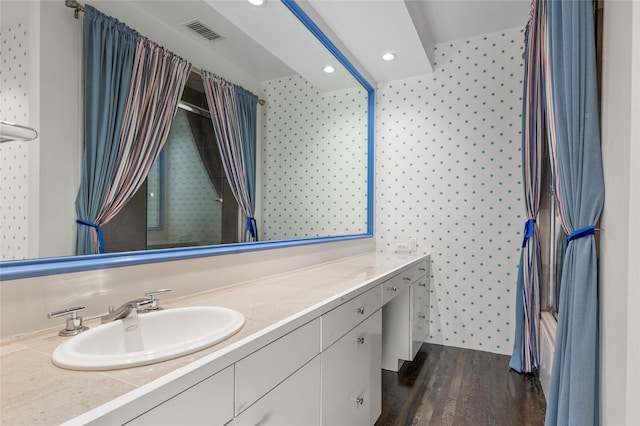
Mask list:
[{"label": "narrow white cabinet at vanity's far end, past the knee space", "polygon": [[[382,368],[398,371],[411,361],[429,334],[429,263],[422,260],[394,277],[405,283],[382,308]],[[383,283],[383,288],[389,288]]]}]

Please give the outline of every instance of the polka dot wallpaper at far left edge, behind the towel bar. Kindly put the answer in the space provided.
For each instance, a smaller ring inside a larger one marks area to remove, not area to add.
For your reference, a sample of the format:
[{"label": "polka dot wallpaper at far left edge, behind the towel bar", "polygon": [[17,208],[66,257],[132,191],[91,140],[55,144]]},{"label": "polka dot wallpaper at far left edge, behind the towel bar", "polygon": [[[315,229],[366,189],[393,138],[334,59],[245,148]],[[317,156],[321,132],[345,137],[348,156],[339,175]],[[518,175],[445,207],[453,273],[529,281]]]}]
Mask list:
[{"label": "polka dot wallpaper at far left edge, behind the towel bar", "polygon": [[[29,124],[27,22],[0,30],[0,119],[21,125]],[[0,145],[0,260],[29,255],[29,148],[22,142]]]}]

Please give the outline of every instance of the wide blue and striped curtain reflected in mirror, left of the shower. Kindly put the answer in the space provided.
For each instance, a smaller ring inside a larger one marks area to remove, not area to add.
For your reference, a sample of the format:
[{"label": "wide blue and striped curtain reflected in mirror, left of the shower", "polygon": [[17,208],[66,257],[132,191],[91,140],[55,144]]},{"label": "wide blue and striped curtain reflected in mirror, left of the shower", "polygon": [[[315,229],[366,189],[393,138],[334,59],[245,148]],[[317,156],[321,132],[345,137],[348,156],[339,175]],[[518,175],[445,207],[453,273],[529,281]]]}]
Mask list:
[{"label": "wide blue and striped curtain reflected in mirror, left of the shower", "polygon": [[[76,254],[103,252],[100,227],[144,182],[166,141],[191,69],[117,20],[90,6],[87,10],[85,151],[76,198]],[[126,49],[121,47],[124,35]]]}]

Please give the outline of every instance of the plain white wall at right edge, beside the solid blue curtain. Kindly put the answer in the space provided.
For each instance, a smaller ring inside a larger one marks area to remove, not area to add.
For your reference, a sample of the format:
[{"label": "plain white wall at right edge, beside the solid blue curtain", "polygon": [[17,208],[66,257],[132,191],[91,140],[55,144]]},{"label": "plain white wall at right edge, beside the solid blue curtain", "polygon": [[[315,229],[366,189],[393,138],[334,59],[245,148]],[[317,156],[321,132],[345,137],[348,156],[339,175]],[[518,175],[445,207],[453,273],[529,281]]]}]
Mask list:
[{"label": "plain white wall at right edge, beside the solid blue curtain", "polygon": [[601,420],[640,424],[640,3],[605,2]]}]

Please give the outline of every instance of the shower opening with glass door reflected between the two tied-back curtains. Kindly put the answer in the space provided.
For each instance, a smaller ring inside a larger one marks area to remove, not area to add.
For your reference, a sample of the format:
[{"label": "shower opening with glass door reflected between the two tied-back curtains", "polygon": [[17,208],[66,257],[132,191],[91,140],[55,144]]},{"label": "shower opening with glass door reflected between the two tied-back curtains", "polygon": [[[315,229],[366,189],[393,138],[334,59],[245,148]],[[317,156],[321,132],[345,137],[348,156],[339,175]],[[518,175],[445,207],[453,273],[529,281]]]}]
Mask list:
[{"label": "shower opening with glass door reflected between the two tied-back curtains", "polygon": [[146,187],[104,226],[105,252],[240,242],[239,208],[203,92],[202,79],[192,72]]}]

